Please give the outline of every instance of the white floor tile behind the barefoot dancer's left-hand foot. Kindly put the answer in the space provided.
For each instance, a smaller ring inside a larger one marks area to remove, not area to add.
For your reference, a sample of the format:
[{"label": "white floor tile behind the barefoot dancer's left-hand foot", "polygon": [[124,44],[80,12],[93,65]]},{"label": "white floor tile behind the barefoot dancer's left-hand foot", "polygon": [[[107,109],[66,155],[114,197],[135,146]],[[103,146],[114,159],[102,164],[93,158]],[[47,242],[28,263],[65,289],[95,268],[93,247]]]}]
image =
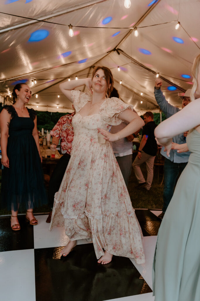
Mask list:
[{"label": "white floor tile behind the barefoot dancer's left-hand foot", "polygon": [[[65,234],[64,227],[55,227],[50,232],[49,223],[46,223],[47,215],[37,215],[38,225],[34,226],[34,248],[51,248],[66,246],[69,238]],[[77,245],[88,244],[85,239],[77,240]]]}]

